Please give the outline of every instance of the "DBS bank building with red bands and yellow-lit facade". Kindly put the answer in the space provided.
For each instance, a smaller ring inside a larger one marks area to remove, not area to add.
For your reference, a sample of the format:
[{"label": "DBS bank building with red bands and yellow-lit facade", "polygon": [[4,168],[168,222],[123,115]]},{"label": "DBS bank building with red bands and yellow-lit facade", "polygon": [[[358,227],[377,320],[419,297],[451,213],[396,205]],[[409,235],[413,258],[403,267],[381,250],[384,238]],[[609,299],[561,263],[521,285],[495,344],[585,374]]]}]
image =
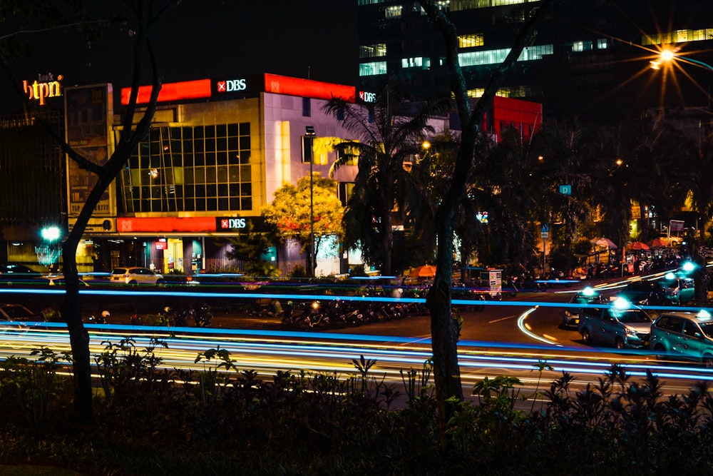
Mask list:
[{"label": "DBS bank building with red bands and yellow-lit facade", "polygon": [[[150,89],[138,91],[139,106],[148,102]],[[113,91],[111,84],[65,88],[69,145],[98,165],[106,163],[129,93]],[[77,250],[80,270],[140,265],[191,275],[237,269],[240,263],[226,257],[230,238],[264,229],[261,211],[277,188],[311,170],[329,174],[337,158],[330,144],[352,137],[322,106],[333,97],[355,96],[353,86],[272,74],[163,84],[150,133],[86,227]],[[342,201],[355,175],[356,166],[335,173]],[[67,161],[69,229],[96,180]],[[289,240],[269,254],[283,274],[305,263],[299,245]],[[343,256],[318,256],[317,272],[344,273]]]}]

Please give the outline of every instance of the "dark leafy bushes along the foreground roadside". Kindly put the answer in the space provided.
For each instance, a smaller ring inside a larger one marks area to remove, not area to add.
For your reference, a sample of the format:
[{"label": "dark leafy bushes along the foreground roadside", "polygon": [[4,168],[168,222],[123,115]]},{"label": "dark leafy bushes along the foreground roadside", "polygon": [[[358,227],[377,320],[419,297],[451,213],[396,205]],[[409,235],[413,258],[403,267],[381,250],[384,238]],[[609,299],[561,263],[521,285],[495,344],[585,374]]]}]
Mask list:
[{"label": "dark leafy bushes along the foreground roadside", "polygon": [[[573,376],[563,373],[525,395],[517,378],[484,378],[473,400],[451,402],[456,411],[440,440],[430,361],[402,372],[399,390],[363,356],[352,361],[353,375],[279,371],[264,381],[221,348],[198,355],[200,370],[160,370],[155,350],[165,343],[105,345],[91,426],[71,419],[71,393],[57,390],[71,385],[50,385],[63,379],[52,353],[38,350],[34,362],[11,359],[3,368],[0,464],[98,475],[712,473],[713,397],[705,383],[664,397],[655,376],[633,381],[613,366],[583,390],[571,390]],[[549,368],[533,367],[540,378]],[[17,411],[16,388],[42,416],[30,426]],[[28,400],[35,392],[47,398]],[[546,403],[535,408],[535,397]],[[525,400],[529,410],[518,406]],[[44,402],[63,411],[43,411]]]}]

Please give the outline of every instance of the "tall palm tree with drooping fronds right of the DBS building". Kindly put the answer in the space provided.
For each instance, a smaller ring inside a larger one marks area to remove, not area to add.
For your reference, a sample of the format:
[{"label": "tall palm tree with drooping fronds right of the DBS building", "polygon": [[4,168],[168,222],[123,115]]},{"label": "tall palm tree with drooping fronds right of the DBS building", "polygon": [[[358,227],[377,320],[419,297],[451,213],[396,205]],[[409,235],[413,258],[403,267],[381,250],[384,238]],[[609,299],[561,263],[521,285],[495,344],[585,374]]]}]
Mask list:
[{"label": "tall palm tree with drooping fronds right of the DBS building", "polygon": [[[419,153],[424,138],[434,134],[429,118],[444,111],[444,101],[411,103],[405,91],[389,82],[366,105],[334,98],[324,111],[334,116],[354,141],[334,146],[333,168],[357,163],[354,193],[344,213],[345,244],[359,246],[364,259],[391,274],[394,210],[404,209],[408,171],[404,163]],[[400,218],[400,221],[403,217]]]}]

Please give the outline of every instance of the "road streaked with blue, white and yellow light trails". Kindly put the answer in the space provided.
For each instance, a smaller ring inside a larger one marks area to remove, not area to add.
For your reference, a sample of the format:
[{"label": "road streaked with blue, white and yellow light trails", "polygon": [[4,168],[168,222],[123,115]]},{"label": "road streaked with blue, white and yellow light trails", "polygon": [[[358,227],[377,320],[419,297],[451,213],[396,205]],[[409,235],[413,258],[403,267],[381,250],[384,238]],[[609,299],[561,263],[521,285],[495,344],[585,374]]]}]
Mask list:
[{"label": "road streaked with blue, white and yellow light trails", "polygon": [[[560,377],[563,372],[576,376],[573,388],[597,380],[612,363],[622,365],[635,377],[647,370],[667,380],[665,392],[680,394],[692,388],[696,380],[713,378],[709,370],[695,365],[661,363],[645,351],[599,349],[583,345],[574,330],[560,329],[562,308],[574,289],[550,289],[548,293],[521,294],[503,301],[489,301],[482,311],[461,311],[463,328],[459,343],[461,373],[466,394],[473,384],[486,376],[517,376],[525,389],[534,388]],[[101,353],[107,341],[118,342],[134,335],[137,347],[148,343],[150,336],[162,338],[168,349],[159,350],[168,368],[196,368],[195,357],[210,348],[225,348],[240,368],[258,370],[269,378],[277,370],[327,371],[356,373],[352,359],[364,355],[376,360],[375,373],[387,381],[401,384],[401,372],[420,369],[431,356],[430,318],[412,315],[401,320],[371,323],[359,328],[280,330],[279,319],[250,315],[262,295],[220,293],[203,295],[193,288],[172,290],[91,290],[83,293],[84,309],[111,312],[110,325],[88,324],[93,353]],[[39,290],[4,290],[3,300],[26,303],[33,310],[56,305],[61,290],[39,293]],[[281,296],[284,296],[281,295]],[[306,298],[329,299],[329,295],[307,295]],[[175,307],[191,301],[210,303],[215,311],[212,328],[138,328],[127,325],[134,310],[158,313],[166,303]],[[66,329],[59,323],[48,328],[4,333],[0,355],[29,354],[33,348],[52,345],[62,352],[69,348]],[[540,372],[539,366],[548,369]],[[200,368],[200,365],[198,365]],[[551,367],[551,370],[549,370]]]}]

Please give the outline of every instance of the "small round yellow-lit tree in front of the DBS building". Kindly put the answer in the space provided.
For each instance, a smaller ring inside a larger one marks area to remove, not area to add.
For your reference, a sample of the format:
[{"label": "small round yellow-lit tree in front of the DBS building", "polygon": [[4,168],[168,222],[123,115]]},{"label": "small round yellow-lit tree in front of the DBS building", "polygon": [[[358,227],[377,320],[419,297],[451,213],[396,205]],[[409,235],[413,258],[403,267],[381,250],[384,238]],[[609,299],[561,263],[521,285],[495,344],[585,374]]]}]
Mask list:
[{"label": "small round yellow-lit tree in front of the DBS building", "polygon": [[[312,186],[307,176],[300,178],[297,186],[286,183],[278,188],[275,199],[262,210],[262,216],[280,238],[297,238],[303,252],[309,250],[314,231],[314,256],[327,236],[342,238],[344,234],[344,207],[337,197],[337,182],[319,172],[312,173]],[[316,266],[314,260],[312,269]]]}]

